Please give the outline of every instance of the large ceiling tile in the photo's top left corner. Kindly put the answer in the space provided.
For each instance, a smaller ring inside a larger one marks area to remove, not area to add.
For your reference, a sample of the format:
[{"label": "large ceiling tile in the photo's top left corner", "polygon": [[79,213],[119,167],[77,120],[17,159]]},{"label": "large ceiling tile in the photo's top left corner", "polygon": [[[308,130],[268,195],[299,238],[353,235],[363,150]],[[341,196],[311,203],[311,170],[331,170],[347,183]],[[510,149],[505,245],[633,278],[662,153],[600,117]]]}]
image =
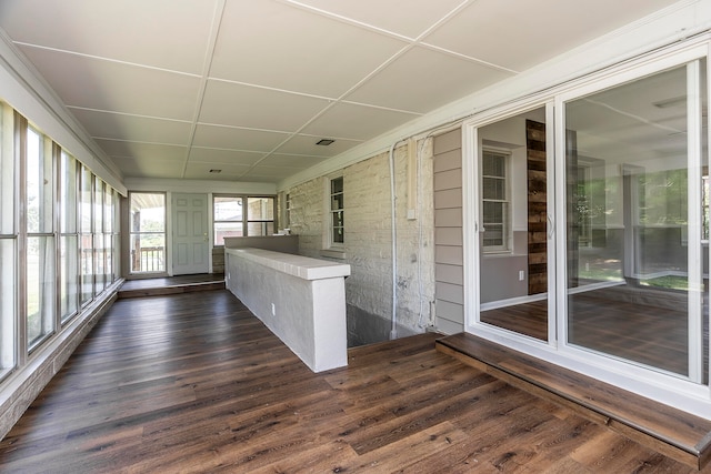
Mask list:
[{"label": "large ceiling tile in the photo's top left corner", "polygon": [[3,0],[14,41],[201,73],[214,0]]}]

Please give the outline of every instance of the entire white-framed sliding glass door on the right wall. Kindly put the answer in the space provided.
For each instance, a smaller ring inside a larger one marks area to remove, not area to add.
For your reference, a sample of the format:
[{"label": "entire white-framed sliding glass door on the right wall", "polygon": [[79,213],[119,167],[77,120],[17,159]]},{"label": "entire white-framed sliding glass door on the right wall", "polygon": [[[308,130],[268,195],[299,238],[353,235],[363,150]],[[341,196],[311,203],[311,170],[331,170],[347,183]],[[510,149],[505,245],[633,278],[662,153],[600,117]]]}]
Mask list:
[{"label": "entire white-framed sliding glass door on the right wall", "polygon": [[704,53],[465,125],[469,332],[632,391],[710,393]]}]

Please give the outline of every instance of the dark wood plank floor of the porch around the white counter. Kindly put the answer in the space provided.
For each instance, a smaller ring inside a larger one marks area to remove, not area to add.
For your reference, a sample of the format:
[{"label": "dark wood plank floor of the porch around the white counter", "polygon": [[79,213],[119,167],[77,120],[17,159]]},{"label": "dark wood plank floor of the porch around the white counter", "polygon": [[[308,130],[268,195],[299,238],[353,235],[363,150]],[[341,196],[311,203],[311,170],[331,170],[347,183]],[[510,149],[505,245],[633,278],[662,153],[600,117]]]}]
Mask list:
[{"label": "dark wood plank floor of the porch around the white counter", "polygon": [[435,334],[313,374],[232,294],[198,294],[119,300],[0,442],[0,471],[694,472]]}]

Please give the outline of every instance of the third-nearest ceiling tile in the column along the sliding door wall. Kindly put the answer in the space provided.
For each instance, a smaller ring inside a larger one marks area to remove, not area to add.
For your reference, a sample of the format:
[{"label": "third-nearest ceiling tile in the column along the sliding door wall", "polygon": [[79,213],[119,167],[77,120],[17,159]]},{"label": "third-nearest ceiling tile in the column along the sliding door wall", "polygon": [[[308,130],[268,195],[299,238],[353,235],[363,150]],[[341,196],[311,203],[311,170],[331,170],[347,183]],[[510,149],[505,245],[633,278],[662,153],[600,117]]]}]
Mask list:
[{"label": "third-nearest ceiling tile in the column along the sliding door wall", "polygon": [[326,138],[369,140],[418,115],[353,103],[338,103],[303,129]]}]

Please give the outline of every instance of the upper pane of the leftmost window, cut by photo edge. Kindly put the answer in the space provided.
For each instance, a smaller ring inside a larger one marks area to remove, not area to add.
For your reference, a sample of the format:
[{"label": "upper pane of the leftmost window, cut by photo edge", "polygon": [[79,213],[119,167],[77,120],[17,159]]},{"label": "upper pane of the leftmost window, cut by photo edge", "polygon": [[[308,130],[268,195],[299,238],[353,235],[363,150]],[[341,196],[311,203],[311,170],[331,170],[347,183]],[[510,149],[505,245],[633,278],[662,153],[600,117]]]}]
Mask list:
[{"label": "upper pane of the leftmost window, cut by photo edge", "polygon": [[0,234],[14,233],[12,108],[0,103]]}]

